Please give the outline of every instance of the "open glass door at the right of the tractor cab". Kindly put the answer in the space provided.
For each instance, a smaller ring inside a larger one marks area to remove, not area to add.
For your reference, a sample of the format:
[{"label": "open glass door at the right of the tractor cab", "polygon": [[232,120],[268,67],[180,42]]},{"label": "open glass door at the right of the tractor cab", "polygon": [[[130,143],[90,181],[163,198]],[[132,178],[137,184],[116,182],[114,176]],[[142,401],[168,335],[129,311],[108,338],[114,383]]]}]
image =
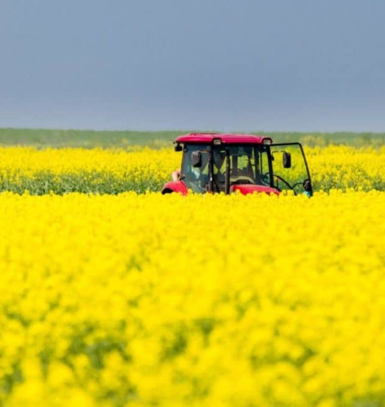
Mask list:
[{"label": "open glass door at the right of the tractor cab", "polygon": [[271,186],[278,190],[313,195],[308,164],[300,143],[270,145],[272,164]]}]

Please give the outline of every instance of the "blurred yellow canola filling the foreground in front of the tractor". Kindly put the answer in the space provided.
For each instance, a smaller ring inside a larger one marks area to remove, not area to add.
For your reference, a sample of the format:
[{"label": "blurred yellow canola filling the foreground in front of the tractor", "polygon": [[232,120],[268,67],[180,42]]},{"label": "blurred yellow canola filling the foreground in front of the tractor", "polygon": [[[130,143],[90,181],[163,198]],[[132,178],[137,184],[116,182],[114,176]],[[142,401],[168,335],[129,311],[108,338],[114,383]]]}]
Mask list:
[{"label": "blurred yellow canola filling the foreground in front of the tractor", "polygon": [[382,405],[385,193],[0,195],[0,403]]}]

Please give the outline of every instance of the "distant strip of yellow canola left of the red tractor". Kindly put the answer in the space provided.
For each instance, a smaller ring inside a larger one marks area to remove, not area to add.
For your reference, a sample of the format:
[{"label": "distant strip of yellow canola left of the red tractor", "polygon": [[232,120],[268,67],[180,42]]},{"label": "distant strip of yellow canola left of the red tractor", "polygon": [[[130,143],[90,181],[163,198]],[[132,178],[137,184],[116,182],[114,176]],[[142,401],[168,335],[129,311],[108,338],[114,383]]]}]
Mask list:
[{"label": "distant strip of yellow canola left of the red tractor", "polygon": [[172,149],[0,147],[0,191],[32,194],[160,190],[180,166]]}]

